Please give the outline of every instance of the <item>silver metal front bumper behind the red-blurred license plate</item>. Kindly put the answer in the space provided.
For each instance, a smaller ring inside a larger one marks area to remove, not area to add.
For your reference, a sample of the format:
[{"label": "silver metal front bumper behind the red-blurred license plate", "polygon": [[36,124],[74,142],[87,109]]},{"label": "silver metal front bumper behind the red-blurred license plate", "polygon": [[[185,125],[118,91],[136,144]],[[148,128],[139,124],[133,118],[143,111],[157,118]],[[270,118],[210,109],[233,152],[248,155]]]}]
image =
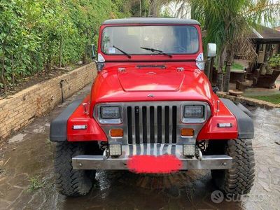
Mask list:
[{"label": "silver metal front bumper behind the red-blurred license plate", "polygon": [[[102,155],[77,155],[72,158],[73,169],[110,169],[130,170],[127,162],[139,156],[162,157],[172,155],[181,162],[179,170],[186,169],[231,169],[232,158],[228,155],[202,155],[202,160],[196,157],[183,156],[182,145],[171,144],[139,144],[123,145],[123,153],[119,158],[106,158]],[[147,164],[149,164],[147,162]],[[165,164],[164,162],[162,164]]]}]

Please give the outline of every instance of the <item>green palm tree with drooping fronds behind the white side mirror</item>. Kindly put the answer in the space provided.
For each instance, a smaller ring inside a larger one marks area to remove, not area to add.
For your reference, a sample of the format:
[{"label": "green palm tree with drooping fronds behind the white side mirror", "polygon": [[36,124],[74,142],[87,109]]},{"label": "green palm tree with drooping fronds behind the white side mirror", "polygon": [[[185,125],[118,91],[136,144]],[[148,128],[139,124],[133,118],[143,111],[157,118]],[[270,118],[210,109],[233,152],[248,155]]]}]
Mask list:
[{"label": "green palm tree with drooping fronds behind the white side mirror", "polygon": [[[174,1],[175,2],[175,1]],[[280,18],[280,2],[273,0],[188,0],[181,3],[179,10],[191,10],[191,18],[202,23],[207,30],[205,43],[216,43],[217,85],[228,92],[230,69],[235,49],[254,57],[253,43],[248,38],[252,27],[261,23],[273,24]],[[225,64],[225,76],[223,66]]]}]

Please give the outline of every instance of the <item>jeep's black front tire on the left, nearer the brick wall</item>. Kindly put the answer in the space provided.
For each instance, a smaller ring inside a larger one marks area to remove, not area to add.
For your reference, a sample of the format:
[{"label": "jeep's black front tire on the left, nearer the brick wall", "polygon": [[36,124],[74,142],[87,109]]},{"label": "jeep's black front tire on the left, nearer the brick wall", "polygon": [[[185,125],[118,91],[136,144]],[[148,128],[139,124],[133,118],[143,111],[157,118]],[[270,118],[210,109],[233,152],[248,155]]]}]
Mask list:
[{"label": "jeep's black front tire on the left, nearer the brick wall", "polygon": [[55,153],[55,186],[62,195],[77,197],[87,195],[92,188],[95,170],[76,170],[72,158],[85,154],[83,144],[59,142]]}]

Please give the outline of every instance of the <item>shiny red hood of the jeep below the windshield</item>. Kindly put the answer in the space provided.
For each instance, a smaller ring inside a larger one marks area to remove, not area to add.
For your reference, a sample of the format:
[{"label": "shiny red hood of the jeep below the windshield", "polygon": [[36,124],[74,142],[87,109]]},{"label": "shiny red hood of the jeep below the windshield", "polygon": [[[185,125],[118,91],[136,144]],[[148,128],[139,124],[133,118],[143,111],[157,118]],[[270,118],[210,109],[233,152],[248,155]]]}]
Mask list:
[{"label": "shiny red hood of the jeep below the windshield", "polygon": [[[125,63],[107,65],[94,80],[91,92],[92,106],[102,102],[211,102],[211,85],[205,74],[196,69],[195,62],[164,65],[165,69],[138,68],[136,64]],[[125,68],[125,72],[120,72],[119,67]],[[177,71],[178,67],[185,70]],[[148,97],[148,94],[153,94],[154,97]]]}]

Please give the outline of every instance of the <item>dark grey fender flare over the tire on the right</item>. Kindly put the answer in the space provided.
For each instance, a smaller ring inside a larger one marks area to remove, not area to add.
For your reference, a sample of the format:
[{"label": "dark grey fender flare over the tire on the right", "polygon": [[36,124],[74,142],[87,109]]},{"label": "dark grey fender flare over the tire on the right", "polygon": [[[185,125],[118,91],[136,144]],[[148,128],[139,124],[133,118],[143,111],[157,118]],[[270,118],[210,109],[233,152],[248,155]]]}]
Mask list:
[{"label": "dark grey fender flare over the tire on the right", "polygon": [[253,139],[254,126],[251,111],[248,111],[242,104],[235,105],[230,99],[221,99],[221,101],[237,120],[238,139]]}]

